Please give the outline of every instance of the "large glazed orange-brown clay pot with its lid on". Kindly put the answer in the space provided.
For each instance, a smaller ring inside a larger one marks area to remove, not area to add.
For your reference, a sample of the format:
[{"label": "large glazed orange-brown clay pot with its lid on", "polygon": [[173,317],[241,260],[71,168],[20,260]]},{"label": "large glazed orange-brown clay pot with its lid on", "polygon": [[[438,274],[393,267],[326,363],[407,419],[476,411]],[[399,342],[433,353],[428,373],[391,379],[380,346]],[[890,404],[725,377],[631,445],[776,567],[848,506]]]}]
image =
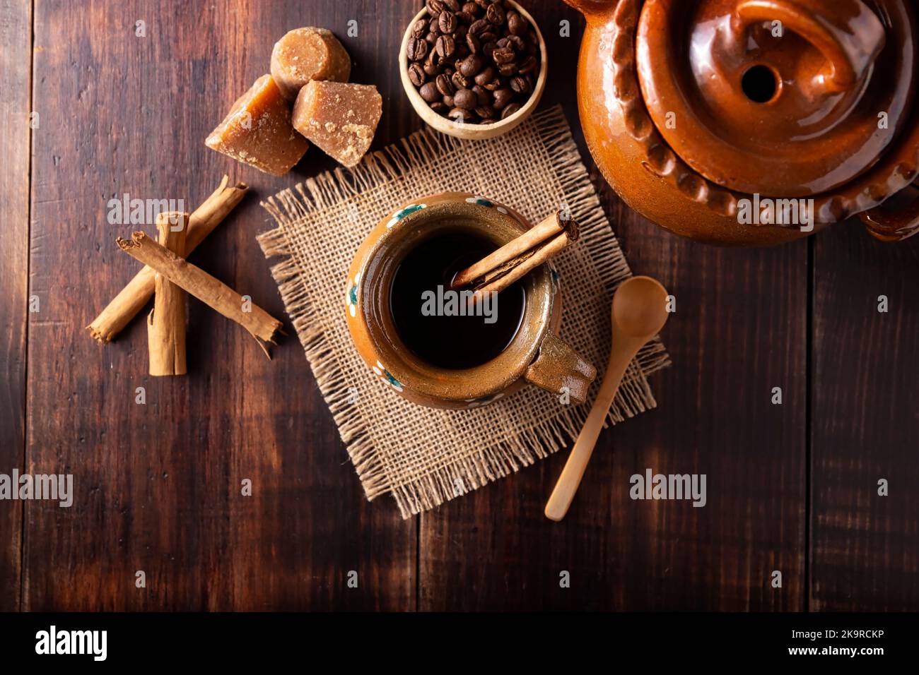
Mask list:
[{"label": "large glazed orange-brown clay pot with its lid on", "polygon": [[565,2],[584,138],[646,218],[733,245],[919,231],[914,0]]}]

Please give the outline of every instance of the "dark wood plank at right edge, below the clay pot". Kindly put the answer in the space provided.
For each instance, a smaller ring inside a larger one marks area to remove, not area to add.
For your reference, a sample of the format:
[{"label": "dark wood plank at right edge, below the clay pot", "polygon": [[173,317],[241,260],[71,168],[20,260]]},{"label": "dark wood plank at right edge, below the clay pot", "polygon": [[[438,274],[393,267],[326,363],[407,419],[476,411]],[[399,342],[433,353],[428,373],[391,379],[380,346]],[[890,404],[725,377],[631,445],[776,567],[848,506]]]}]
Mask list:
[{"label": "dark wood plank at right edge, below the clay pot", "polygon": [[919,237],[885,244],[854,221],[815,244],[811,609],[915,612]]}]

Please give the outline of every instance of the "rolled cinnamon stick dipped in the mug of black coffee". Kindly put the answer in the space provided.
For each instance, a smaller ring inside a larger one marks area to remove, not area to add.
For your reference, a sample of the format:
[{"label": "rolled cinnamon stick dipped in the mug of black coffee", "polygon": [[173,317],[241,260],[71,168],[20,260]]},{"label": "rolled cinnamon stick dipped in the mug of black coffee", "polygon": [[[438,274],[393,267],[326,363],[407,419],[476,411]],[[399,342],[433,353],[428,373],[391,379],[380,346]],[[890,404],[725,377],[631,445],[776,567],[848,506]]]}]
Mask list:
[{"label": "rolled cinnamon stick dipped in the mug of black coffee", "polygon": [[553,213],[478,263],[461,270],[451,286],[497,293],[576,242],[579,234],[580,228],[574,220],[562,219],[561,211]]}]

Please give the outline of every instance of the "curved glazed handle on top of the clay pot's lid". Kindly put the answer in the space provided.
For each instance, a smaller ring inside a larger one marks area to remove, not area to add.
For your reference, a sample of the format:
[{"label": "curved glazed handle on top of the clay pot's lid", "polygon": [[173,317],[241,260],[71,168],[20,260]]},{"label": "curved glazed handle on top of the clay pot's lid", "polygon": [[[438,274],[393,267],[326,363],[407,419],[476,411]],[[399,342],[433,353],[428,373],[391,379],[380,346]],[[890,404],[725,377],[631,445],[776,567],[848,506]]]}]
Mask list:
[{"label": "curved glazed handle on top of the clay pot's lid", "polygon": [[780,21],[823,53],[833,69],[823,77],[830,91],[856,86],[884,47],[884,26],[862,0],[742,0],[737,4],[733,27],[738,33],[763,21]]}]

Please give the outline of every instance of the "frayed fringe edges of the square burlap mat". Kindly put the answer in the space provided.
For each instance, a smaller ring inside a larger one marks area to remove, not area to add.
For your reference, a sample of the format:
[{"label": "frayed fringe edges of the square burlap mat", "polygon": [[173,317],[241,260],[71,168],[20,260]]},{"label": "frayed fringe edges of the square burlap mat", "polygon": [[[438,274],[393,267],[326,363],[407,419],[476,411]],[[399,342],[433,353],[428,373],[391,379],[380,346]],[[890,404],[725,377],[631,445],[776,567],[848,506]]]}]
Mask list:
[{"label": "frayed fringe edges of the square burlap mat", "polygon": [[[551,158],[564,200],[573,219],[581,225],[581,239],[611,297],[618,284],[631,276],[629,264],[581,162],[562,108],[541,111],[526,124],[535,126]],[[354,169],[339,168],[320,174],[261,202],[278,227],[259,235],[257,241],[266,258],[281,258],[271,267],[271,274],[367,499],[372,501],[390,492],[403,518],[481,488],[567,446],[580,432],[589,412],[588,406],[568,408],[536,426],[520,430],[513,437],[478,448],[403,485],[394,484],[387,475],[384,458],[372,444],[365,422],[350,413],[344,374],[324,337],[325,327],[312,321],[310,299],[301,282],[302,269],[284,230],[312,211],[397,180],[409,167],[435,161],[438,155],[455,151],[466,142],[476,141],[460,141],[431,129],[417,131],[381,152],[368,154]],[[669,365],[669,356],[660,339],[645,345],[630,364],[607,421],[615,424],[655,408],[657,402],[646,376]]]}]

